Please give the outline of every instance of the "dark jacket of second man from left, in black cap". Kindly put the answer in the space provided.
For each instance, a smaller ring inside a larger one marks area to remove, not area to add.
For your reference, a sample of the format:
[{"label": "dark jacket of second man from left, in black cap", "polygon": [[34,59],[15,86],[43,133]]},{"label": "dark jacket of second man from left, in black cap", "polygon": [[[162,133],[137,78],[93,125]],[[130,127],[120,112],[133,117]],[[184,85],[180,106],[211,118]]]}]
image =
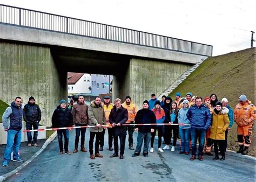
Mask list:
[{"label": "dark jacket of second man from left, in black cap", "polygon": [[27,103],[23,108],[23,118],[25,122],[35,123],[41,121],[41,109],[37,104]]}]

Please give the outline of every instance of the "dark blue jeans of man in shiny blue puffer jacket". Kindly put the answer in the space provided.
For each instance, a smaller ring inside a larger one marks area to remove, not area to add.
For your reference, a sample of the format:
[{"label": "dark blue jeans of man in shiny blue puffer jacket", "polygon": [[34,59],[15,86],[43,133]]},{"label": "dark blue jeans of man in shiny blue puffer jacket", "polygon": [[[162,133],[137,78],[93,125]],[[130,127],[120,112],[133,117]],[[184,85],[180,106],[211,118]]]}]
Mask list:
[{"label": "dark blue jeans of man in shiny blue puffer jacket", "polygon": [[191,128],[191,139],[192,139],[192,155],[196,156],[197,153],[197,139],[198,139],[198,156],[203,156],[203,149],[205,144],[205,129]]}]

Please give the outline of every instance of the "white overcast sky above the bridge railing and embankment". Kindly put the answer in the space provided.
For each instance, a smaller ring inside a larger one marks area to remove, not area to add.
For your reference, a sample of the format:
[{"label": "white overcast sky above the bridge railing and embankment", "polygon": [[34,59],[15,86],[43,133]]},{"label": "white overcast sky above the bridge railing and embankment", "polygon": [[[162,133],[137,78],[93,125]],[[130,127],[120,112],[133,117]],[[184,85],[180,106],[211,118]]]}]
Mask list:
[{"label": "white overcast sky above the bridge railing and embankment", "polygon": [[251,31],[256,32],[253,0],[0,0],[0,3],[196,41],[212,45],[213,55],[250,48]]}]

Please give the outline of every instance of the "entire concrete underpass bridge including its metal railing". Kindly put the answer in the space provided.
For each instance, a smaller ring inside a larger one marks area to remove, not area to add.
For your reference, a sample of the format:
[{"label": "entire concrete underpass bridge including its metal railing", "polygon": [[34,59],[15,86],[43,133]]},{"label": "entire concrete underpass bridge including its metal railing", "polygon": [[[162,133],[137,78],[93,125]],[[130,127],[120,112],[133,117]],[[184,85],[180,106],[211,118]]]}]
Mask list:
[{"label": "entire concrete underpass bridge including its metal railing", "polygon": [[139,107],[212,55],[212,46],[0,4],[0,95],[33,95],[42,123],[68,95],[67,73],[113,75],[113,98]]}]

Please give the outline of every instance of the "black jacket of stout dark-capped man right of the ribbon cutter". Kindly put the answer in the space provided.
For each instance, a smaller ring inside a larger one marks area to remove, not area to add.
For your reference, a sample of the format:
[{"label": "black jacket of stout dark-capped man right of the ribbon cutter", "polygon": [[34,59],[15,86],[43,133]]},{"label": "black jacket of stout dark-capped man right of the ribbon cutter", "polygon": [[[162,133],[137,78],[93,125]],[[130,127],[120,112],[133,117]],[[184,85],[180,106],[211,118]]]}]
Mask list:
[{"label": "black jacket of stout dark-capped man right of the ribbon cutter", "polygon": [[[157,122],[156,115],[152,110],[140,109],[135,116],[135,124],[154,124]],[[139,132],[151,132],[151,129],[156,129],[156,125],[139,125],[135,126]]]}]

